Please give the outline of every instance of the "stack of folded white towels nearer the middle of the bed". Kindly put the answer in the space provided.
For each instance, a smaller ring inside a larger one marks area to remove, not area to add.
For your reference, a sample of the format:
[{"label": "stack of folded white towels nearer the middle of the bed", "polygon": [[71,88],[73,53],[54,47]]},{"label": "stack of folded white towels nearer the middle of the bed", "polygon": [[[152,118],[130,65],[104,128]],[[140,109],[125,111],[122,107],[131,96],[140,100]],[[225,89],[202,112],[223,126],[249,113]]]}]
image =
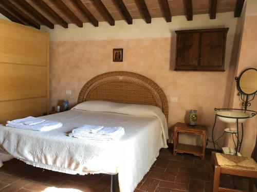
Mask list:
[{"label": "stack of folded white towels nearer the middle of the bed", "polygon": [[104,127],[94,125],[82,125],[69,133],[69,137],[88,138],[95,140],[116,140],[124,135],[122,126]]}]

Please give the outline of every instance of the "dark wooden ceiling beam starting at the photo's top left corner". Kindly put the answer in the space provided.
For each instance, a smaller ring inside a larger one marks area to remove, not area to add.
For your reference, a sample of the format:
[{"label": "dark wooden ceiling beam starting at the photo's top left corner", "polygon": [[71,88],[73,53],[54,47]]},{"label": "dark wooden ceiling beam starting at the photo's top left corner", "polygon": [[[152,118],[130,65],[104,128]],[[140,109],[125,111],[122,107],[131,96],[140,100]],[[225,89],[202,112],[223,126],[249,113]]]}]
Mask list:
[{"label": "dark wooden ceiling beam starting at the photo's top left corner", "polygon": [[40,24],[38,22],[35,22],[32,18],[30,18],[27,14],[25,14],[23,11],[21,11],[19,8],[17,8],[14,4],[12,4],[9,1],[0,1],[0,4],[8,9],[11,13],[19,17],[19,19],[22,19],[23,22],[26,22],[28,25],[40,29]]}]

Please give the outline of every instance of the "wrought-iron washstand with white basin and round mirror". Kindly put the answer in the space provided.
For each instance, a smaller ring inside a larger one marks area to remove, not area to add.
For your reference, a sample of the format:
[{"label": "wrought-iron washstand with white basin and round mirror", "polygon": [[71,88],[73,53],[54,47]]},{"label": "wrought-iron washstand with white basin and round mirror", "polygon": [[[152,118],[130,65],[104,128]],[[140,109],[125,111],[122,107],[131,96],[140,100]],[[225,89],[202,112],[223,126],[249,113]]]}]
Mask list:
[{"label": "wrought-iron washstand with white basin and round mirror", "polygon": [[[239,152],[241,150],[244,135],[243,122],[257,115],[256,111],[247,110],[247,107],[251,106],[250,101],[254,99],[257,93],[257,70],[255,68],[245,69],[238,77],[235,77],[235,81],[236,88],[239,91],[237,95],[240,96],[241,100],[243,101],[242,104],[244,106],[244,109],[214,109],[216,114],[212,127],[212,143],[214,146],[214,150],[216,150],[215,145],[217,145],[225,154],[241,156]],[[224,129],[223,134],[218,137],[218,139],[214,139],[213,133],[217,119],[225,123],[235,123],[236,127],[229,127]],[[241,124],[241,138],[239,135],[239,124]],[[218,145],[218,140],[222,138],[225,133],[232,134],[235,146],[234,149],[230,147],[220,147]],[[233,136],[236,137],[236,142]]]}]

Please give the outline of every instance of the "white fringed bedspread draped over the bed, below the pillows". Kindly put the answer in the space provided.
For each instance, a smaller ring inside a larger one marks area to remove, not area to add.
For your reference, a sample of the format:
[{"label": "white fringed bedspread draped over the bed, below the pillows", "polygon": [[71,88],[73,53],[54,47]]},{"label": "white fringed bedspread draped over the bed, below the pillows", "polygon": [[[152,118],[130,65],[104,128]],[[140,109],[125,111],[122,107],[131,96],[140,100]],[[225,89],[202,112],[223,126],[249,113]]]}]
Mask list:
[{"label": "white fringed bedspread draped over the bed, below the pillows", "polygon": [[[34,132],[0,125],[0,145],[13,157],[33,166],[68,174],[119,173],[122,192],[133,191],[148,172],[163,144],[161,121],[105,112],[70,110],[42,117],[63,126],[49,132]],[[68,137],[83,124],[123,126],[116,141]]]}]

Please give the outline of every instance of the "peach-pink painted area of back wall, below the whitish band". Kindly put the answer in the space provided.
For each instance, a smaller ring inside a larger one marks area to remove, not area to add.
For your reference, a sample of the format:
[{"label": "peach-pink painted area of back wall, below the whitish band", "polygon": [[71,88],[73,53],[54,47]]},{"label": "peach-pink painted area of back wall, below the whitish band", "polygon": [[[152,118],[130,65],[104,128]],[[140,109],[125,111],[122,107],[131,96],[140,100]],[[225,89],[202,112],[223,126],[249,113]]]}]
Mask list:
[{"label": "peach-pink painted area of back wall, below the whitish band", "polygon": [[[213,109],[228,106],[229,63],[226,72],[176,72],[175,44],[175,37],[51,42],[50,106],[65,98],[75,105],[82,86],[98,74],[131,71],[153,79],[168,100],[178,97],[178,102],[169,102],[170,126],[188,122],[188,111],[196,109],[198,124],[210,130]],[[123,62],[112,61],[113,48],[123,48]],[[72,95],[67,97],[65,90]]]}]

